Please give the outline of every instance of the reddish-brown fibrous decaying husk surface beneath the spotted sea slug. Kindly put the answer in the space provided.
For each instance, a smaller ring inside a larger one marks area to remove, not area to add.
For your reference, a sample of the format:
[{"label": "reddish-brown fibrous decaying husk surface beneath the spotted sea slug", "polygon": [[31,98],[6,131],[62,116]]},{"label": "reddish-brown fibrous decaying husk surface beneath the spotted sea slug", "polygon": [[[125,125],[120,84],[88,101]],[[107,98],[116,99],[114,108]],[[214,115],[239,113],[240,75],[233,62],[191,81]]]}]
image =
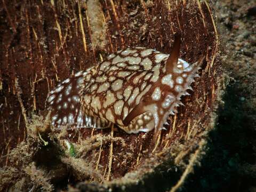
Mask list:
[{"label": "reddish-brown fibrous decaying husk surface beneath the spotted sea slug", "polygon": [[[97,14],[89,10],[94,6]],[[224,87],[211,4],[4,0],[1,7],[1,189],[51,191],[69,184],[70,190],[132,190],[147,188],[143,183],[168,170],[177,190],[202,158]],[[181,34],[180,58],[205,60],[191,84],[194,91],[182,98],[185,106],[167,119],[166,130],[153,137],[154,131],[127,134],[115,126],[58,131],[49,124],[44,102],[60,81],[124,47],[170,53],[175,33]],[[17,147],[26,155],[15,156],[28,161],[10,161]]]}]

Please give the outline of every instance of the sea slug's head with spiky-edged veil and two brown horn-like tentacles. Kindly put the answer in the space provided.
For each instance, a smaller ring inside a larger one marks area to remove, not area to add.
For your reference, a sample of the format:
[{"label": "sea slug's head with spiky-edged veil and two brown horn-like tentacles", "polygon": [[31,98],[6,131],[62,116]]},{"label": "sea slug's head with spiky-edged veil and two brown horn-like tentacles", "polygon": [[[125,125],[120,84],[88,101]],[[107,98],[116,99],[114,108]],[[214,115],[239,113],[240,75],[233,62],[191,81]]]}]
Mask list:
[{"label": "sea slug's head with spiky-edged veil and two brown horn-like tentacles", "polygon": [[198,77],[197,71],[204,57],[193,65],[179,59],[180,43],[180,36],[176,35],[173,49],[161,67],[162,73],[158,73],[157,81],[124,119],[125,126],[136,127],[133,133],[163,129],[169,115],[173,115],[177,112],[176,108],[183,105],[181,96],[188,94],[191,83]]}]

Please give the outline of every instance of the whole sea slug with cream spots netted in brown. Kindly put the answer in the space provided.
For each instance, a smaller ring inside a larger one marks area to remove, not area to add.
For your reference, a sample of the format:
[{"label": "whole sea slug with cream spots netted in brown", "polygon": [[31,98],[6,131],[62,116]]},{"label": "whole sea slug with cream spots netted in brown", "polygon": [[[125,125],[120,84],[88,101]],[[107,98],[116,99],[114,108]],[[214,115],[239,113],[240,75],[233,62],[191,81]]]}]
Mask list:
[{"label": "whole sea slug with cream spots netted in brown", "polygon": [[179,49],[177,37],[170,55],[129,47],[66,79],[46,99],[52,125],[101,129],[114,123],[127,133],[162,129],[199,68],[200,62],[178,59]]}]

